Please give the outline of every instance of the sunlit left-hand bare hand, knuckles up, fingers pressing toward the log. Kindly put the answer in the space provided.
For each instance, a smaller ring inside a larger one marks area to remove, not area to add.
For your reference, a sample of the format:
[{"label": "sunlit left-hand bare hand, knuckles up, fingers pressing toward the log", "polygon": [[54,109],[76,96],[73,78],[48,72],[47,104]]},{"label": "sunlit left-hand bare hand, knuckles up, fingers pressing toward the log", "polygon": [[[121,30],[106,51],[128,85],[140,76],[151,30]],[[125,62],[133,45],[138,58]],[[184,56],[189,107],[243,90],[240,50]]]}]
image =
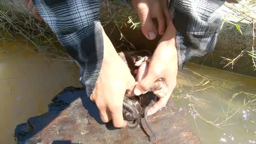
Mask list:
[{"label": "sunlit left-hand bare hand, knuckles up, fingers pressing toward the log", "polygon": [[124,95],[131,94],[135,80],[104,30],[102,33],[104,41],[102,68],[90,99],[99,108],[103,122],[107,123],[112,119],[115,127],[125,127],[127,122],[124,121],[122,111]]}]

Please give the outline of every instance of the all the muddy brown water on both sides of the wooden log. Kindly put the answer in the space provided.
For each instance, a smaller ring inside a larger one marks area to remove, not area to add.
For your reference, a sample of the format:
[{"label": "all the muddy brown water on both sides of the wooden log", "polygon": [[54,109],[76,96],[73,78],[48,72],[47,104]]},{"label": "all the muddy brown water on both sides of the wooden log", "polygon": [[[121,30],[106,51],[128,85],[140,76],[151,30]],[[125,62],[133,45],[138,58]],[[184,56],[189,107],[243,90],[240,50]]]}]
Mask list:
[{"label": "all the muddy brown water on both sides of the wooden log", "polygon": [[[15,143],[17,124],[45,113],[64,87],[81,85],[73,62],[49,60],[22,42],[4,42],[1,47],[0,143]],[[173,98],[189,109],[190,127],[204,143],[255,143],[255,88],[255,78],[188,63],[178,75]]]}]

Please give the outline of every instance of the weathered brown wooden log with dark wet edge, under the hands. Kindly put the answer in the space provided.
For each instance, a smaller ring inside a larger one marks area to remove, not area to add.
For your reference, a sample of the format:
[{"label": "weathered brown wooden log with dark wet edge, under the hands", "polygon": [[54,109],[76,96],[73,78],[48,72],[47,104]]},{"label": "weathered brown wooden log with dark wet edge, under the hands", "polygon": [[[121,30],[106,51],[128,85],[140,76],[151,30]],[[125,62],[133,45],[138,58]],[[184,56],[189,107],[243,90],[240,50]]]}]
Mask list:
[{"label": "weathered brown wooden log with dark wet edge, under the hands", "polygon": [[[150,126],[158,135],[151,143],[201,143],[189,129],[186,115],[186,109],[179,109],[170,100],[166,108],[149,116]],[[18,143],[148,143],[150,132],[143,119],[142,125],[115,129],[111,121],[103,123],[85,90],[67,87],[53,98],[47,113],[18,125],[15,137]]]}]

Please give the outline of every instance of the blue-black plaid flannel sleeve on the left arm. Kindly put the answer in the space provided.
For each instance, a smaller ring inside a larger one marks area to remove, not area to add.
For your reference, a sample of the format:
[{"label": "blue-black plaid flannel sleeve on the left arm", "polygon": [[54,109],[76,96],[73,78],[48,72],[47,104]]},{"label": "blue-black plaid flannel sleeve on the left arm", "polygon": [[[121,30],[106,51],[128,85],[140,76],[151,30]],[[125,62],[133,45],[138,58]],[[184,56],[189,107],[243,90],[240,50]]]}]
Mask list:
[{"label": "blue-black plaid flannel sleeve on the left arm", "polygon": [[34,5],[81,69],[81,83],[90,96],[103,60],[98,0],[34,0]]}]

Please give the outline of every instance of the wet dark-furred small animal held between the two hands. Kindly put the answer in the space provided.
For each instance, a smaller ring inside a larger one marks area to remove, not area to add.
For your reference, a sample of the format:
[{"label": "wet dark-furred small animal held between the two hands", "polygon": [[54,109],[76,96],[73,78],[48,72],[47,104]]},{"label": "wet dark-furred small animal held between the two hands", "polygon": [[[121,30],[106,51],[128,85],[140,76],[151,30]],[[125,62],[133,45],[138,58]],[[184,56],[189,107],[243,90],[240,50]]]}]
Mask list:
[{"label": "wet dark-furred small animal held between the two hands", "polygon": [[[131,72],[133,72],[135,69],[139,67],[137,74],[132,73],[135,79],[137,79],[137,81],[140,81],[142,77],[146,75],[147,73],[146,70],[148,67],[148,64],[146,62],[148,62],[151,57],[151,53],[149,51],[142,50],[142,51],[135,51],[135,52],[121,52],[119,53],[119,56],[124,60],[126,65],[130,68]],[[142,62],[140,62],[139,64],[137,63],[138,67],[135,67],[134,64],[137,61],[140,61],[141,59],[143,59]],[[155,85],[155,88],[157,88],[156,85]],[[124,97],[123,117],[126,121],[129,121],[127,122],[126,127],[129,127],[129,128],[137,127],[140,123],[141,117],[145,116],[145,123],[149,131],[154,135],[155,139],[157,139],[157,136],[154,133],[154,131],[150,128],[148,119],[147,119],[148,109],[154,105],[156,100],[157,100],[157,96],[151,92],[142,94],[139,97],[133,97],[132,99]]]}]

